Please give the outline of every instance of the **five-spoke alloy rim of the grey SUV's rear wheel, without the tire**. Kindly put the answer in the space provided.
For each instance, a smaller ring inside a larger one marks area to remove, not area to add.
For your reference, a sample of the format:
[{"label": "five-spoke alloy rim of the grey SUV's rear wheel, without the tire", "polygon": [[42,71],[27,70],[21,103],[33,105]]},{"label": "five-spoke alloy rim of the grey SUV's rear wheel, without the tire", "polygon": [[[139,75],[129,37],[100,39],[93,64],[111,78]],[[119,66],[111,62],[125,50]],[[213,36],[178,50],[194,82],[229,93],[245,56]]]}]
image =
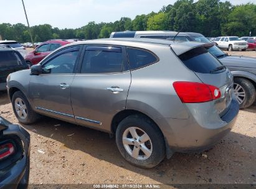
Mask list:
[{"label": "five-spoke alloy rim of the grey SUV's rear wheel, without the tire", "polygon": [[150,137],[138,127],[129,127],[123,132],[123,146],[126,152],[136,160],[146,160],[153,152]]}]

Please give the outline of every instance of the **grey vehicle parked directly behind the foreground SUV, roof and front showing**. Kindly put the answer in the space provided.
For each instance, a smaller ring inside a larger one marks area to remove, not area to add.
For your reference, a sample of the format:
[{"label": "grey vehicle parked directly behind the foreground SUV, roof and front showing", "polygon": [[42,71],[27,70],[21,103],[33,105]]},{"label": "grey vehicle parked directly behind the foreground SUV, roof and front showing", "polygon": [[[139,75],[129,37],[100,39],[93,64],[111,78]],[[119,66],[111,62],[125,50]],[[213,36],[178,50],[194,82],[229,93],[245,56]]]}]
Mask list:
[{"label": "grey vehicle parked directly behind the foreground SUV, roof and front showing", "polygon": [[[176,35],[177,34],[177,35]],[[110,38],[151,38],[169,39],[175,41],[196,41],[212,43],[204,35],[194,32],[173,31],[141,31],[141,32],[112,32]],[[174,39],[175,37],[175,39]],[[217,37],[220,39],[220,37]],[[254,40],[255,39],[251,39]],[[252,45],[252,44],[251,44]],[[256,45],[256,44],[255,44]],[[252,46],[251,46],[252,47]],[[256,88],[256,58],[244,56],[230,56],[222,52],[216,45],[210,47],[209,52],[219,58],[220,62],[227,66],[234,76],[235,97],[240,108],[248,108],[255,102]]]}]

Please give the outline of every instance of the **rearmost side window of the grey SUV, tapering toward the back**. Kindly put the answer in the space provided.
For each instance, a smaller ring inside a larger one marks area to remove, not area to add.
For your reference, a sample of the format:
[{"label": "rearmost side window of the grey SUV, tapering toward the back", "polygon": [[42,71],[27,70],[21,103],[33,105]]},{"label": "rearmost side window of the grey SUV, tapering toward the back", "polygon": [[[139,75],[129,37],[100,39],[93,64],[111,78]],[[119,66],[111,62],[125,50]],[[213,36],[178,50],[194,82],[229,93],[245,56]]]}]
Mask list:
[{"label": "rearmost side window of the grey SUV, tapering toward the back", "polygon": [[152,52],[139,48],[128,47],[127,54],[131,70],[146,67],[152,63],[158,62],[159,60],[158,57],[156,57],[156,55],[154,55]]}]

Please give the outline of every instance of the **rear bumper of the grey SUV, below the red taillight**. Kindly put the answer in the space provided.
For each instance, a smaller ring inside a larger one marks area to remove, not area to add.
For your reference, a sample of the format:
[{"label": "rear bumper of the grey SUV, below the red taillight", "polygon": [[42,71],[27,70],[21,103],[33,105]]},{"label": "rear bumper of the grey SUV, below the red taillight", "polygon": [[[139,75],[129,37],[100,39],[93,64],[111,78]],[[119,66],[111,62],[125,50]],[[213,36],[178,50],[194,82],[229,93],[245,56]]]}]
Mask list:
[{"label": "rear bumper of the grey SUV, below the red taillight", "polygon": [[175,152],[201,151],[212,147],[234,126],[239,113],[239,104],[232,99],[229,111],[221,118],[216,118],[214,113],[210,115],[203,110],[204,108],[194,109],[189,119],[161,119],[161,123],[166,124],[163,133],[171,150]]}]

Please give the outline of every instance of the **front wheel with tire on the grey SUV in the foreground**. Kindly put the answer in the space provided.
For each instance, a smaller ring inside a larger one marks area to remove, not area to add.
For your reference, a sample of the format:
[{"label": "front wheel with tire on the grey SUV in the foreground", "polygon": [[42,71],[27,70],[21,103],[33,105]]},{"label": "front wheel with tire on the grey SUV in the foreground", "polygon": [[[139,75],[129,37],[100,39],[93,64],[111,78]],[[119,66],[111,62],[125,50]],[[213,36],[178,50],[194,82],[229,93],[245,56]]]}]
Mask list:
[{"label": "front wheel with tire on the grey SUV in the foreground", "polygon": [[[25,105],[25,106],[24,106]],[[16,91],[12,96],[12,109],[16,118],[22,124],[32,124],[40,118],[27,101],[26,96],[21,91]]]}]

